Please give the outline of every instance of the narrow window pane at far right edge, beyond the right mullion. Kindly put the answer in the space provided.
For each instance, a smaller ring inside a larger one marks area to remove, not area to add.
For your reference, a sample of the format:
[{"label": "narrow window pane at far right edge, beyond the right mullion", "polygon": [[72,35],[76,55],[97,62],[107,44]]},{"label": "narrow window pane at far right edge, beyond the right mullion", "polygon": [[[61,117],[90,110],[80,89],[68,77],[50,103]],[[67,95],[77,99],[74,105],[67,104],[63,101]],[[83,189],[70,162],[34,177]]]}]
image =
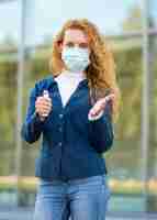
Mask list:
[{"label": "narrow window pane at far right edge, beyond the right mullion", "polygon": [[150,136],[148,150],[148,210],[157,211],[157,36],[149,40]]}]

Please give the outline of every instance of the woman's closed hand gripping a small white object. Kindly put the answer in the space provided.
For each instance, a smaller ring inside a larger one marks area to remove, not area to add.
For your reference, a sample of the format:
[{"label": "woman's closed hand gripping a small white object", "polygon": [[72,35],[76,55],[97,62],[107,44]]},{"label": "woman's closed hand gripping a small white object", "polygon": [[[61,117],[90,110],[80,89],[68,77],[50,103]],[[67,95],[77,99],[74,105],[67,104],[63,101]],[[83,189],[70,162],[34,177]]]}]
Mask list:
[{"label": "woman's closed hand gripping a small white object", "polygon": [[52,99],[49,97],[40,96],[35,101],[35,112],[40,114],[42,121],[49,114],[52,110]]}]

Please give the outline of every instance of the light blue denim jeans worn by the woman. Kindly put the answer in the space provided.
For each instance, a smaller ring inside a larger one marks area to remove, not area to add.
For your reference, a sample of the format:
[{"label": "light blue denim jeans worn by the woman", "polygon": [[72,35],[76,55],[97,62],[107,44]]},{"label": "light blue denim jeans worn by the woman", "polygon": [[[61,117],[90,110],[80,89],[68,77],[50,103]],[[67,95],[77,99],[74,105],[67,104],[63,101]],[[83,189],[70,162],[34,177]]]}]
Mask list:
[{"label": "light blue denim jeans worn by the woman", "polygon": [[105,220],[110,196],[105,174],[68,182],[40,179],[34,220]]}]

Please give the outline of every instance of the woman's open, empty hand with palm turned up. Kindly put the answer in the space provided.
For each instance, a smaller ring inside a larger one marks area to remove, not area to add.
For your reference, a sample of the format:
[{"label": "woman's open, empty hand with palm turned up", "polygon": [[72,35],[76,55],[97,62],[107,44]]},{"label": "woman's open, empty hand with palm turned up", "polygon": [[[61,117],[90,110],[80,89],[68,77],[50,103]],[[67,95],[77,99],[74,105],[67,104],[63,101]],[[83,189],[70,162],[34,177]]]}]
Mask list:
[{"label": "woman's open, empty hand with palm turned up", "polygon": [[114,98],[115,98],[114,94],[110,94],[110,95],[105,96],[104,98],[99,99],[94,103],[94,106],[90,109],[89,116],[90,117],[97,117],[97,116],[99,116],[99,113],[104,110],[104,107],[105,107],[106,102],[109,100],[113,101]]}]

